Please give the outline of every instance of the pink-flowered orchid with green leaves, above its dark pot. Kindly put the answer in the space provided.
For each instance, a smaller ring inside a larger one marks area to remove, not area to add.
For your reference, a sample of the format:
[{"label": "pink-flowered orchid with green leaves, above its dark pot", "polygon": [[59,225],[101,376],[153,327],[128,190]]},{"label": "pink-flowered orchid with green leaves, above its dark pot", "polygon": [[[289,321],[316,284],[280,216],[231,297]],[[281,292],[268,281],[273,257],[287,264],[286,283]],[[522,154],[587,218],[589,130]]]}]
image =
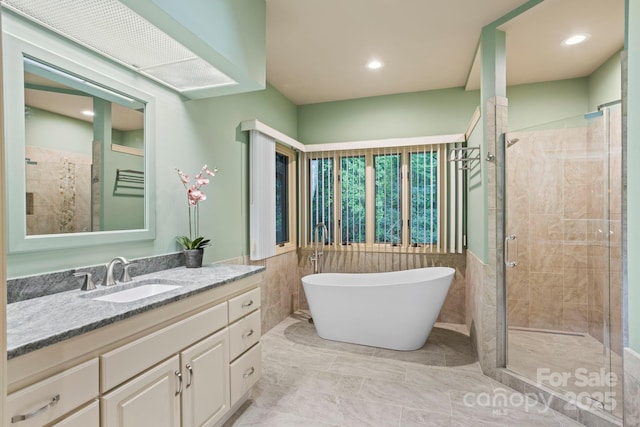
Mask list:
[{"label": "pink-flowered orchid with green leaves, above its dark pot", "polygon": [[207,195],[201,190],[202,187],[209,183],[210,176],[215,176],[218,172],[217,168],[209,169],[204,165],[200,172],[196,175],[193,184],[190,182],[189,175],[184,174],[180,169],[176,168],[180,182],[187,190],[187,201],[189,208],[189,235],[179,236],[176,238],[178,243],[185,249],[202,249],[211,244],[210,239],[200,236],[200,202],[207,200]]}]

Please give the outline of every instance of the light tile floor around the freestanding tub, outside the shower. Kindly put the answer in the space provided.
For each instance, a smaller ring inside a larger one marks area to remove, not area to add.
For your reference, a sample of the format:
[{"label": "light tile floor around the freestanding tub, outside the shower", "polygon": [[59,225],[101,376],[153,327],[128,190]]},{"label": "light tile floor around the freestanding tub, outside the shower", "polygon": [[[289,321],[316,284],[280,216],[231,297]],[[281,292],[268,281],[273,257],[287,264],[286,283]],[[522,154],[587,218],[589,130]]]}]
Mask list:
[{"label": "light tile floor around the freestanding tub, outside the shower", "polygon": [[263,378],[225,427],[580,425],[484,376],[461,325],[399,352],[323,340],[295,313],[262,345]]}]

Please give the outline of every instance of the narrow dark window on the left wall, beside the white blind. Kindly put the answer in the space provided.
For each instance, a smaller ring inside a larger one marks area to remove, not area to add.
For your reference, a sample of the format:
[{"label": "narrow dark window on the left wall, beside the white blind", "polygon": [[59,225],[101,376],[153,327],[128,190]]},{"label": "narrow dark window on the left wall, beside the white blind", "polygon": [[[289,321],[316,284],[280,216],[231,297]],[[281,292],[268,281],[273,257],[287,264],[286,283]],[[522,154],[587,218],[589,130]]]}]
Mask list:
[{"label": "narrow dark window on the left wall, beside the white blind", "polygon": [[276,144],[276,254],[296,248],[296,154]]}]

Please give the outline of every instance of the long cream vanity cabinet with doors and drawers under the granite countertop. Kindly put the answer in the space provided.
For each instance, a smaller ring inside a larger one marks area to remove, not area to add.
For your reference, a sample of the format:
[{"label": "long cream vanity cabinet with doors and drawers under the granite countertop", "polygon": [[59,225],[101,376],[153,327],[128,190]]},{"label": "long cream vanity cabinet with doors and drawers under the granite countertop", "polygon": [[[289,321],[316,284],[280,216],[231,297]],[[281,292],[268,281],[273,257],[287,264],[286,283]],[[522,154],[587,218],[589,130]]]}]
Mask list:
[{"label": "long cream vanity cabinet with doors and drawers under the granite countertop", "polygon": [[[261,279],[11,359],[7,426],[220,426],[262,372]],[[16,415],[28,419],[12,424]]]}]

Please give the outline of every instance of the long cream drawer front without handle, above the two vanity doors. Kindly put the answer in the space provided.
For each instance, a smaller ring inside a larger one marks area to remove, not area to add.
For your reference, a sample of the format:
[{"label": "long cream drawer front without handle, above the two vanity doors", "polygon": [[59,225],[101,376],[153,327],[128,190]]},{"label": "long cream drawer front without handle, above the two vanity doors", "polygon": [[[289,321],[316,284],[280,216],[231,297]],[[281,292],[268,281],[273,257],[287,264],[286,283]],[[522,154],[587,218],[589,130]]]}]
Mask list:
[{"label": "long cream drawer front without handle, above the two vanity doors", "polygon": [[100,389],[111,390],[192,343],[227,325],[227,305],[218,304],[100,356]]}]

